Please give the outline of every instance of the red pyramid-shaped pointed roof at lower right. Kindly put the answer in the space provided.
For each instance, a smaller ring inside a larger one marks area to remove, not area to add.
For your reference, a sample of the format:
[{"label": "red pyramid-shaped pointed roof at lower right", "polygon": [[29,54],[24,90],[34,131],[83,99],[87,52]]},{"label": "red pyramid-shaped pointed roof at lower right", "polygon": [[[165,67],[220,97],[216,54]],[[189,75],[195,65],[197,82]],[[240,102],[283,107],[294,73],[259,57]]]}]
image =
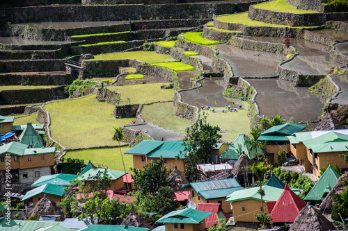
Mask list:
[{"label": "red pyramid-shaped pointed roof at lower right", "polygon": [[276,205],[269,213],[273,219],[271,222],[294,222],[301,209],[305,206],[306,202],[297,196],[286,184],[283,194],[280,195]]}]

